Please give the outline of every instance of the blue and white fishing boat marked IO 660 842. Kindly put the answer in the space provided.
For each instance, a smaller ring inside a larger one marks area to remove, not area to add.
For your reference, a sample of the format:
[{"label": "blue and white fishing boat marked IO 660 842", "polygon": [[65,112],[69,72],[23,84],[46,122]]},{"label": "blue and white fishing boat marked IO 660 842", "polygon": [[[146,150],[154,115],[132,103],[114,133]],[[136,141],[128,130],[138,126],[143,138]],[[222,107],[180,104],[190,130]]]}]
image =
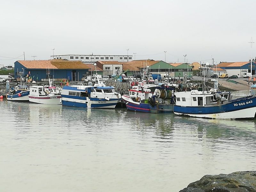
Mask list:
[{"label": "blue and white fishing boat marked IO 660 842", "polygon": [[256,96],[231,99],[231,92],[192,90],[175,92],[176,105],[173,112],[180,116],[203,117],[212,119],[254,118]]}]

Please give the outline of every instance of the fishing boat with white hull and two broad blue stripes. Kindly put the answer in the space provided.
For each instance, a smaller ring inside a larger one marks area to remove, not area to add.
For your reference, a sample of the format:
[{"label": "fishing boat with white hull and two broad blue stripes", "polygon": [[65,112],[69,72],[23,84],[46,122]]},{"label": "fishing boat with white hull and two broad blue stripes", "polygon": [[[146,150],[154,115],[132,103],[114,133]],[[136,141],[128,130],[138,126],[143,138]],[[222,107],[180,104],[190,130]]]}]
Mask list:
[{"label": "fishing boat with white hull and two broad blue stripes", "polygon": [[91,85],[64,86],[61,90],[62,105],[81,108],[115,108],[121,100],[121,94],[115,91],[115,87],[106,86],[104,81],[98,78],[97,70],[95,81],[93,86],[91,82]]}]

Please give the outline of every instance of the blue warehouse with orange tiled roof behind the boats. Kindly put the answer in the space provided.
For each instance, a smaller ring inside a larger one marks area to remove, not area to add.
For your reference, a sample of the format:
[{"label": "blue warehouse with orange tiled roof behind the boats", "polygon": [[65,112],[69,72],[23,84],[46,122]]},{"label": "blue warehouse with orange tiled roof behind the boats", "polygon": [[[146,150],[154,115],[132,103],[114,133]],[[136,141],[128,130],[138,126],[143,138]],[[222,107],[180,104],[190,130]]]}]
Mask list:
[{"label": "blue warehouse with orange tiled roof behind the boats", "polygon": [[14,63],[15,78],[23,74],[29,76],[35,81],[48,80],[48,74],[51,79],[60,81],[67,79],[69,81],[81,81],[83,75],[89,74],[92,66],[84,64],[81,61],[69,60],[19,60]]}]

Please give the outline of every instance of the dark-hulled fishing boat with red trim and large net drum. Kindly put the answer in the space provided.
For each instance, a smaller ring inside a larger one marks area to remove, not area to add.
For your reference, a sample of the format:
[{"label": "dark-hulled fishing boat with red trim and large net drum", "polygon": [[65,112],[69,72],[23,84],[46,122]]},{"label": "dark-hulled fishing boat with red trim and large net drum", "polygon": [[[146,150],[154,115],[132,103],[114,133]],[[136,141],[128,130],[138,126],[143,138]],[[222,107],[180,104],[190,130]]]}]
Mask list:
[{"label": "dark-hulled fishing boat with red trim and large net drum", "polygon": [[126,108],[130,111],[144,113],[172,113],[173,92],[176,84],[144,84],[129,89],[128,95],[123,95]]}]

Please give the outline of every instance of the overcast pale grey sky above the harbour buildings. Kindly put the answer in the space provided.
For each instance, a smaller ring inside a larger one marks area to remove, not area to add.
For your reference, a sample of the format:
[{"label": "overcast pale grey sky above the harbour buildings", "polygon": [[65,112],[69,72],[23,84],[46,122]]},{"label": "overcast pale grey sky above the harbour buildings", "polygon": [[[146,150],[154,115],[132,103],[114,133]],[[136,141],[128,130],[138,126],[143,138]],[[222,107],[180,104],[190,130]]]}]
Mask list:
[{"label": "overcast pale grey sky above the harbour buildings", "polygon": [[[177,62],[256,56],[255,0],[1,1],[0,64],[54,54],[129,54]],[[10,57],[10,58],[7,58]]]}]

